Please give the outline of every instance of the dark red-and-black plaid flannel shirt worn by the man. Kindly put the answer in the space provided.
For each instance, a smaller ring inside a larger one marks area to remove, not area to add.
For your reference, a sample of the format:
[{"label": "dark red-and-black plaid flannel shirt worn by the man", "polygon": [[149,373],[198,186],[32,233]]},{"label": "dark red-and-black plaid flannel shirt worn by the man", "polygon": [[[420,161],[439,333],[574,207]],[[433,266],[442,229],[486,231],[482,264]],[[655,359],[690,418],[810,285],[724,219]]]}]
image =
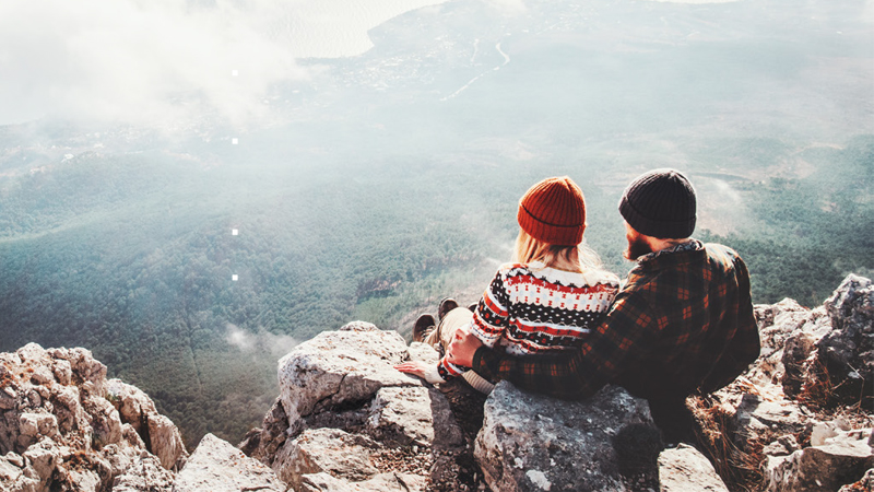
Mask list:
[{"label": "dark red-and-black plaid flannel shirt worn by the man", "polygon": [[725,246],[692,241],[641,257],[581,349],[510,356],[481,348],[473,370],[564,399],[609,383],[650,400],[682,399],[729,384],[759,350],[743,260]]}]

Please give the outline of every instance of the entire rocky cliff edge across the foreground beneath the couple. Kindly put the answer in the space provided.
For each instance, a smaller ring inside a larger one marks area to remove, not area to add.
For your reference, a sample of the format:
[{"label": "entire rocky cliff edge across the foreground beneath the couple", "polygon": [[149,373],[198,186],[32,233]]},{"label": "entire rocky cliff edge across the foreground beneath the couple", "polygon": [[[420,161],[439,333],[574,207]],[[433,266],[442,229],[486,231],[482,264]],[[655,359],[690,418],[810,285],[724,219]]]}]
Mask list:
[{"label": "entire rocky cliff edge across the foreground beneath the couple", "polygon": [[[815,309],[756,306],[763,351],[689,398],[700,450],[664,449],[646,401],[609,386],[565,402],[501,383],[486,399],[392,365],[437,353],[355,321],[279,364],[280,397],[238,447],[191,456],[133,386],[83,349],[0,354],[0,487],[44,491],[872,491],[874,289]],[[704,452],[704,453],[702,453]]]}]

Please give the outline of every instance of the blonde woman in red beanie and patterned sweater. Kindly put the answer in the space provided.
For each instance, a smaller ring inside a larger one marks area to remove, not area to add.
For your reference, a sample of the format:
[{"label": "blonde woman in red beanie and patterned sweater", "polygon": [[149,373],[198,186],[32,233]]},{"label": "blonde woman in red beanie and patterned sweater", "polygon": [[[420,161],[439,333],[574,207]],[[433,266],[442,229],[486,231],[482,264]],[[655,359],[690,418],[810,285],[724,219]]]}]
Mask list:
[{"label": "blonde woman in red beanie and patterned sweater", "polygon": [[[446,349],[456,330],[466,329],[483,344],[497,345],[515,355],[582,344],[606,315],[619,286],[618,278],[601,269],[594,253],[582,245],[582,191],[567,176],[544,179],[519,201],[517,221],[520,231],[513,262],[498,269],[476,308],[471,312],[454,307],[454,301],[445,301],[437,328],[433,328],[433,316],[421,316],[414,340]],[[448,311],[447,305],[454,308]],[[447,358],[436,365],[410,361],[395,368],[432,384],[462,375],[483,393],[494,387],[466,367],[449,363]]]}]

